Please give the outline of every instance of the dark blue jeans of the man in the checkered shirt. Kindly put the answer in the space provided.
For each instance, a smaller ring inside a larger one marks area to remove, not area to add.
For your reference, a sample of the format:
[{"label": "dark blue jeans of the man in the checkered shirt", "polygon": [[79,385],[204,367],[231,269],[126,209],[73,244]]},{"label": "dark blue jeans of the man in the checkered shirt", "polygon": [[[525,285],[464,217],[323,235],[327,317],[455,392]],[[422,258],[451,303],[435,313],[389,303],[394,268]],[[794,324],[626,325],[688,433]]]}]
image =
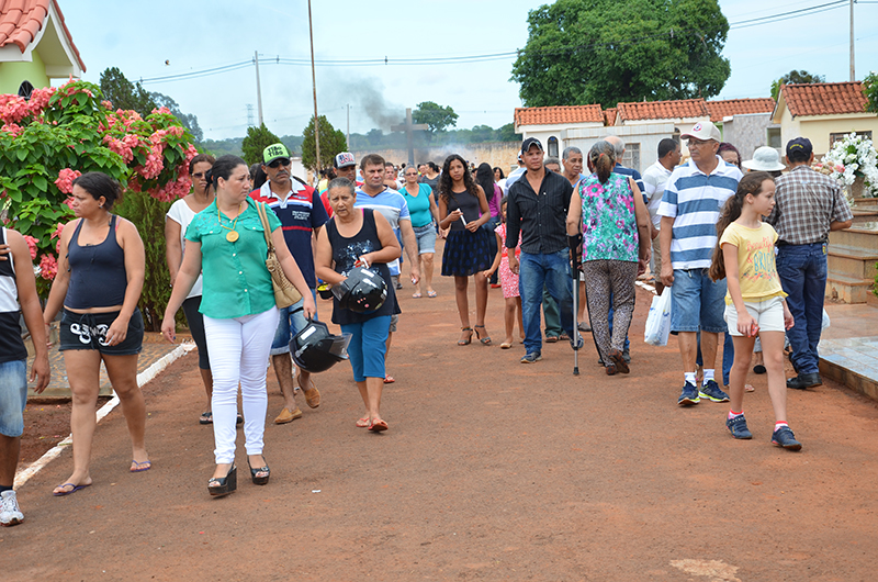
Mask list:
[{"label": "dark blue jeans of the man in the checkered shirt", "polygon": [[825,245],[779,246],[777,275],[796,322],[787,329],[787,338],[792,346],[792,366],[799,373],[815,373],[820,371],[817,345],[820,343],[823,296],[826,292]]}]

